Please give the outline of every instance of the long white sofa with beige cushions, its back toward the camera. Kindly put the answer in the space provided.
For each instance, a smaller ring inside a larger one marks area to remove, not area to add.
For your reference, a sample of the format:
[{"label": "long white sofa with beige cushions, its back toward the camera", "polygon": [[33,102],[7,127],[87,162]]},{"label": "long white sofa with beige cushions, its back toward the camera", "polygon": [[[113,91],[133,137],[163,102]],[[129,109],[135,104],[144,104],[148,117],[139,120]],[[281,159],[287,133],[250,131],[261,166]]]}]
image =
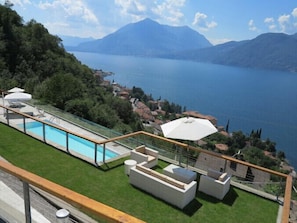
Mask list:
[{"label": "long white sofa with beige cushions, its back toward the camera", "polygon": [[135,187],[146,191],[180,209],[196,196],[197,182],[184,183],[147,167],[147,162],[130,169],[129,181]]}]

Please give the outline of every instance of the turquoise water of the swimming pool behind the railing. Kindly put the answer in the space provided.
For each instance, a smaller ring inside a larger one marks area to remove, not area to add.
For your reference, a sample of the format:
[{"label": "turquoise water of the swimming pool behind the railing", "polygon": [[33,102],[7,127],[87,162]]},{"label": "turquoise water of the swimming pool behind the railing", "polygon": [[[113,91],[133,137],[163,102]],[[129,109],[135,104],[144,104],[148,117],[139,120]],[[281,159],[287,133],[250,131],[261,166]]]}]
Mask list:
[{"label": "turquoise water of the swimming pool behind the railing", "polygon": [[[23,125],[20,125],[20,127],[22,126]],[[43,137],[43,128],[41,122],[26,123],[26,131]],[[45,125],[45,139],[46,141],[52,141],[66,148],[66,132],[60,129]],[[72,134],[68,134],[68,148],[69,150],[95,160],[95,144],[93,142]],[[105,149],[105,160],[114,158],[116,156],[118,156],[117,153]],[[103,147],[100,145],[97,145],[97,161],[103,161]]]}]

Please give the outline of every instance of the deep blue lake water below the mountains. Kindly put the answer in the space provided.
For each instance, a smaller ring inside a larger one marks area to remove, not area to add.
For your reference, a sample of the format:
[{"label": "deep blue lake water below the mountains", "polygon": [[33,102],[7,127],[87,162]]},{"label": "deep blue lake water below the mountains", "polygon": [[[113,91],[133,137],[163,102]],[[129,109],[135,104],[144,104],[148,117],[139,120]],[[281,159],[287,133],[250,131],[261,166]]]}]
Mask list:
[{"label": "deep blue lake water below the mountains", "polygon": [[106,79],[129,88],[140,87],[155,99],[218,119],[229,131],[249,134],[262,129],[262,138],[276,142],[297,168],[297,74],[197,63],[71,52],[94,69],[111,71]]}]

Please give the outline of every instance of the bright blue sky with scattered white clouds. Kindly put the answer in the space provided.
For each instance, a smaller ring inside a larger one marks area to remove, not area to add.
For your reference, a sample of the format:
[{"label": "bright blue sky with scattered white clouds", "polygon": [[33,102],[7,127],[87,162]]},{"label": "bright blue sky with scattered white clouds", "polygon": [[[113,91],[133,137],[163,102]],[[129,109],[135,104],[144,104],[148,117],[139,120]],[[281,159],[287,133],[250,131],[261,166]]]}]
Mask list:
[{"label": "bright blue sky with scattered white clouds", "polygon": [[[0,0],[4,4],[5,0]],[[296,0],[10,0],[24,23],[34,19],[53,35],[100,39],[150,18],[189,26],[212,44],[267,32],[297,33]]]}]

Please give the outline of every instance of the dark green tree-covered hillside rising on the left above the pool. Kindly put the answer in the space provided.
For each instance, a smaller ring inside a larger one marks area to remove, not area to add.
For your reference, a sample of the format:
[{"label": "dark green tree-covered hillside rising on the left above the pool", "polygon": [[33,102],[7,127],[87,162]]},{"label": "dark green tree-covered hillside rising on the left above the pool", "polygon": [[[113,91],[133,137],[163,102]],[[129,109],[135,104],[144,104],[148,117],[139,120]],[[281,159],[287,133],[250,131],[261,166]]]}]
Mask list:
[{"label": "dark green tree-covered hillside rising on the left above the pool", "polygon": [[0,89],[25,88],[33,98],[120,132],[141,124],[128,101],[100,87],[93,71],[67,53],[40,23],[0,5]]}]

